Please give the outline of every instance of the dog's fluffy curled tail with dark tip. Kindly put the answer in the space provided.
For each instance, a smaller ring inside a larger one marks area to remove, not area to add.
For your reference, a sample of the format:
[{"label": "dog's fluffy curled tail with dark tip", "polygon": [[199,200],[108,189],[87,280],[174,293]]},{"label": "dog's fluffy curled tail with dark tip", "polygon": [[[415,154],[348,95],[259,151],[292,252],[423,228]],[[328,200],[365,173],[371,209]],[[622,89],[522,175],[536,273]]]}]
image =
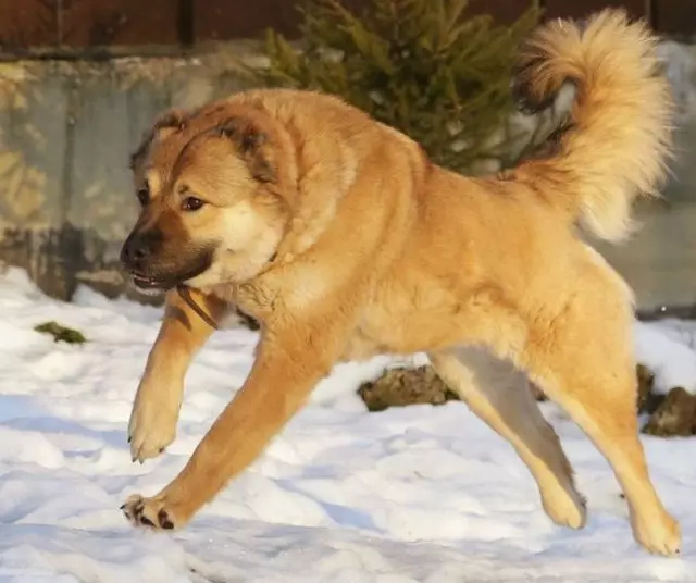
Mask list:
[{"label": "dog's fluffy curled tail with dark tip", "polygon": [[523,107],[549,106],[566,80],[576,94],[552,152],[518,176],[602,239],[631,232],[633,199],[656,195],[666,175],[672,103],[656,45],[645,24],[610,9],[545,24],[521,49],[513,91]]}]

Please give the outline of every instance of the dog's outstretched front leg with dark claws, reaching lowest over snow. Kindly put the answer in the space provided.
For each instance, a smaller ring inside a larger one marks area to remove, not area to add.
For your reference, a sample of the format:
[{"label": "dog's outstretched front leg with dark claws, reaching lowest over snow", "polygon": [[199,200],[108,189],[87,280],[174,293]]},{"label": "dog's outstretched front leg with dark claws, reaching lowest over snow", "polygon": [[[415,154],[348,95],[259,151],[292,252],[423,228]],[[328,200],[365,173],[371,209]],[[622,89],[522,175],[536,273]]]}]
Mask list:
[{"label": "dog's outstretched front leg with dark claws, reaching lowest over snow", "polygon": [[152,498],[130,496],[122,507],[128,520],[156,530],[181,528],[249,466],[331,371],[338,342],[325,332],[264,333],[249,377],[186,467]]}]

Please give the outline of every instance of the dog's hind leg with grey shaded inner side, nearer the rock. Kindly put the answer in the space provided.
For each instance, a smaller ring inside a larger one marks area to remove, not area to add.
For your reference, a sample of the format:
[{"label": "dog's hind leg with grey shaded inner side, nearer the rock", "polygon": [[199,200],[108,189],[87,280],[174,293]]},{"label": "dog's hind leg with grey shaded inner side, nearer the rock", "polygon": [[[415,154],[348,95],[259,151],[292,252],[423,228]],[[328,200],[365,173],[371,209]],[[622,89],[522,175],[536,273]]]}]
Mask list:
[{"label": "dog's hind leg with grey shaded inner side, nearer the rock", "polygon": [[571,466],[525,375],[484,348],[451,349],[430,358],[439,376],[470,409],[514,447],[536,480],[549,518],[581,529],[585,500],[575,489]]}]

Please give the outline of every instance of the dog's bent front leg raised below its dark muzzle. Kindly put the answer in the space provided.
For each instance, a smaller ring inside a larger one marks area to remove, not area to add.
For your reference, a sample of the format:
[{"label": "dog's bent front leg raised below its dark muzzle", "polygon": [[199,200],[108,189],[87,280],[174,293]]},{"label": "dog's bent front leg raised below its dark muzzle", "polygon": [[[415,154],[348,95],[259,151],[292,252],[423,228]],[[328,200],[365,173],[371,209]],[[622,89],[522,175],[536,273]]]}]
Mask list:
[{"label": "dog's bent front leg raised below its dark muzzle", "polygon": [[[195,290],[191,296],[214,322],[220,322],[227,312],[227,305],[211,296]],[[150,350],[128,423],[133,461],[142,463],[147,458],[154,458],[174,441],[186,371],[212,332],[210,324],[176,290],[167,293],[164,319]]]}]

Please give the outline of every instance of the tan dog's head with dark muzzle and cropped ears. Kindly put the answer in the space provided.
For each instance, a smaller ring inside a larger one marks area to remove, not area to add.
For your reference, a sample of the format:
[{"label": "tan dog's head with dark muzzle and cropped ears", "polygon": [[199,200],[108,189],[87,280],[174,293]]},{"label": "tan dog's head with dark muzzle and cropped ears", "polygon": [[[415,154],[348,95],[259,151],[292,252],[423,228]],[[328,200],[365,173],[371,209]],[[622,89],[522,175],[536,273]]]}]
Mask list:
[{"label": "tan dog's head with dark muzzle and cropped ears", "polygon": [[290,218],[282,133],[224,104],[153,125],[132,157],[141,210],[121,251],[137,287],[240,283],[269,264]]}]

